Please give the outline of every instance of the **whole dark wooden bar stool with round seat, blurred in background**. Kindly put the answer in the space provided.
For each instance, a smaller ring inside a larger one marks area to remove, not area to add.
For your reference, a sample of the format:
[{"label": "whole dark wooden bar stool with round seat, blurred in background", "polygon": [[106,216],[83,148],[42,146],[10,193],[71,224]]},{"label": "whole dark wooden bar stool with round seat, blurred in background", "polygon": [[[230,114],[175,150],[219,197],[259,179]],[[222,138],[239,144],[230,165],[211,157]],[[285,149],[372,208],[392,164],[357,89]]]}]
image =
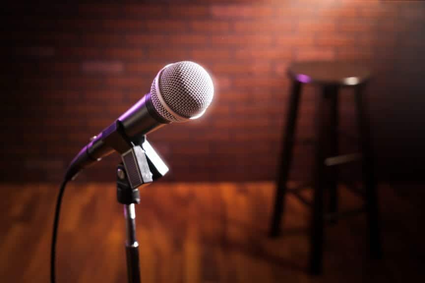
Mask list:
[{"label": "whole dark wooden bar stool with round seat, blurred in background", "polygon": [[[313,200],[311,204],[310,262],[309,269],[314,275],[322,272],[324,238],[324,190],[329,190],[330,215],[337,214],[337,178],[335,165],[353,161],[357,157],[362,162],[364,209],[367,213],[370,251],[373,256],[381,254],[379,209],[375,180],[373,176],[372,146],[369,129],[369,113],[364,99],[364,86],[370,77],[367,68],[353,62],[298,62],[289,68],[292,80],[291,93],[286,120],[285,139],[281,144],[278,166],[277,187],[274,198],[273,217],[270,236],[278,236],[284,210],[286,192],[297,195],[297,190],[288,190],[287,181],[291,167],[292,147],[297,121],[297,112],[303,84],[315,84],[322,93],[316,104],[315,113],[315,162],[313,170]],[[356,96],[357,119],[362,154],[338,154],[338,89],[341,86],[353,87]],[[307,202],[297,195],[299,198]]]}]

